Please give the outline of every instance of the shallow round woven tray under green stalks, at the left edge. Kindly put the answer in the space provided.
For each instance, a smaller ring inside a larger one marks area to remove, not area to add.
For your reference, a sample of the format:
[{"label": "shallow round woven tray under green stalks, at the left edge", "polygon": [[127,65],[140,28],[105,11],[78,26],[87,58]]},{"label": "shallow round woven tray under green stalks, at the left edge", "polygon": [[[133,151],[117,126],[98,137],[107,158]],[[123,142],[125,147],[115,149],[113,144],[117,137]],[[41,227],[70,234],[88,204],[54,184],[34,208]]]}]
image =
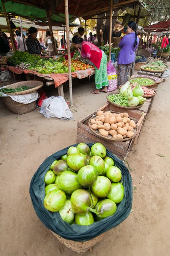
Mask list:
[{"label": "shallow round woven tray under green stalks, at the left edge", "polygon": [[22,94],[32,93],[32,92],[38,90],[40,87],[42,87],[43,82],[41,82],[41,81],[21,81],[19,83],[10,84],[6,88],[14,88],[15,89],[15,88],[18,88],[21,86],[28,86],[28,87],[30,87],[30,89],[23,90],[21,92],[8,93],[8,95],[22,95]]}]

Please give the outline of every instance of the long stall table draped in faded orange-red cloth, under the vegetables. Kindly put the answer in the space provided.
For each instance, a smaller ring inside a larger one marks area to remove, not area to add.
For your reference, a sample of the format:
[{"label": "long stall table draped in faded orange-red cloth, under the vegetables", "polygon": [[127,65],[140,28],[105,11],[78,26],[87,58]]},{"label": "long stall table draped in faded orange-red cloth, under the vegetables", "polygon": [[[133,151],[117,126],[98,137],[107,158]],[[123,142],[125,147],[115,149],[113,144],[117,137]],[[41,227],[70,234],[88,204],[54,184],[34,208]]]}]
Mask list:
[{"label": "long stall table draped in faded orange-red cloth, under the vegetables", "polygon": [[[69,80],[69,73],[62,73],[62,74],[55,74],[55,73],[50,73],[50,74],[40,74],[36,72],[35,70],[28,70],[25,69],[23,70],[22,68],[17,68],[17,67],[12,67],[12,66],[7,66],[7,69],[12,71],[15,74],[26,74],[26,79],[30,80],[29,75],[36,75],[39,77],[43,77],[44,79],[49,80],[49,82],[46,82],[46,85],[51,85],[55,84],[55,87],[58,88],[58,94],[59,96],[64,96],[63,93],[63,83]],[[78,79],[83,79],[87,76],[92,76],[95,74],[95,68],[91,67],[86,70],[77,70],[75,72],[72,72],[72,78],[78,78]]]}]

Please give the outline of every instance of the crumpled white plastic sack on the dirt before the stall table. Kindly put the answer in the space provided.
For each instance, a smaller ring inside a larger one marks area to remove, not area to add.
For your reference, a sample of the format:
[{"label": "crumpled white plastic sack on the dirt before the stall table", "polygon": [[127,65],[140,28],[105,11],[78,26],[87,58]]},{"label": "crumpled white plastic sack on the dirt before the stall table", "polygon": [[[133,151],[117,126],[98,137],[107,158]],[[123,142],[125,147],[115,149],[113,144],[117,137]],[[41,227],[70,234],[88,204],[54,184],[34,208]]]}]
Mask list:
[{"label": "crumpled white plastic sack on the dirt before the stall table", "polygon": [[59,97],[49,97],[44,99],[41,105],[41,110],[39,113],[43,114],[47,118],[58,117],[61,119],[71,119],[72,112],[69,110],[65,99],[62,96]]}]

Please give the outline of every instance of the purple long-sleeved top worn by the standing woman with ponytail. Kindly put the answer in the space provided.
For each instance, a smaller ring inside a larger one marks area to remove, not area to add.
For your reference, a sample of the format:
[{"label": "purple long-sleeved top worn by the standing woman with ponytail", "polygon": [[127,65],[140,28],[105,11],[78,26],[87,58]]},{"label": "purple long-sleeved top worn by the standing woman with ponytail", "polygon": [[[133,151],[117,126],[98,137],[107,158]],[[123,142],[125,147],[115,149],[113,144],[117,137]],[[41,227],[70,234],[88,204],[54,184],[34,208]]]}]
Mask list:
[{"label": "purple long-sleeved top worn by the standing woman with ponytail", "polygon": [[137,37],[137,45],[134,47],[135,43],[135,33],[129,33],[124,35],[123,39],[119,43],[119,48],[121,48],[118,55],[118,64],[130,64],[135,61],[135,50],[139,44],[139,38]]}]

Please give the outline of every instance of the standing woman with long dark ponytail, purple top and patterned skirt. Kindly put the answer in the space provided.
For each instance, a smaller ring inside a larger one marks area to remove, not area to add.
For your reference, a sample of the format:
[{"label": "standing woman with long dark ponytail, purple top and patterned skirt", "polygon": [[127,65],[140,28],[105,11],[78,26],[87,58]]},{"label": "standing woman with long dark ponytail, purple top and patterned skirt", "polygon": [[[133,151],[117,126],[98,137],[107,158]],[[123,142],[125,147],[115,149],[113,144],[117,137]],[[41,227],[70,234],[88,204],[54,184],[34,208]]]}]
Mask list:
[{"label": "standing woman with long dark ponytail, purple top and patterned skirt", "polygon": [[[127,35],[119,43],[121,48],[118,55],[118,86],[125,84],[130,76],[133,61],[135,61],[135,50],[139,44],[136,32],[135,21],[130,21],[127,25]],[[128,76],[127,76],[128,75]]]}]

